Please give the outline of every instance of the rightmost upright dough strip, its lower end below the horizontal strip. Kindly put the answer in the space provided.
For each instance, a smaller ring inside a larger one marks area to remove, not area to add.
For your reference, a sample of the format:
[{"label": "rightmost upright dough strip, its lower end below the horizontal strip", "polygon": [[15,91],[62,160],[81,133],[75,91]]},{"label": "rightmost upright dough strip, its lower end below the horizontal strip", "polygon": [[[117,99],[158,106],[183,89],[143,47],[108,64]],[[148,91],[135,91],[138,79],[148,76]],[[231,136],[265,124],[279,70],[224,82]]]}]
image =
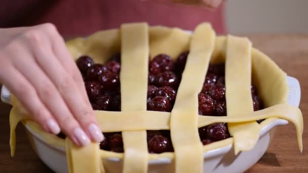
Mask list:
[{"label": "rightmost upright dough strip, its lower end below the horizontal strip", "polygon": [[[253,112],[251,96],[251,42],[247,38],[227,36],[225,62],[225,96],[227,116]],[[234,151],[249,151],[257,143],[261,131],[256,121],[228,123],[234,138]]]}]

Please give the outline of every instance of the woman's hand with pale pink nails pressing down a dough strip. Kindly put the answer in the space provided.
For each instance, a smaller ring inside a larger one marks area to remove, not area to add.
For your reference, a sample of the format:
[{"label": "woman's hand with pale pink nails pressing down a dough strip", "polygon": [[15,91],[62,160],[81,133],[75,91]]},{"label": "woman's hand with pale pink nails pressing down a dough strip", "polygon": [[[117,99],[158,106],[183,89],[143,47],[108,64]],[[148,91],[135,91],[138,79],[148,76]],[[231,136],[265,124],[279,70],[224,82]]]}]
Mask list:
[{"label": "woman's hand with pale pink nails pressing down a dough strip", "polygon": [[76,145],[101,142],[81,73],[53,24],[0,28],[0,83],[32,119]]}]

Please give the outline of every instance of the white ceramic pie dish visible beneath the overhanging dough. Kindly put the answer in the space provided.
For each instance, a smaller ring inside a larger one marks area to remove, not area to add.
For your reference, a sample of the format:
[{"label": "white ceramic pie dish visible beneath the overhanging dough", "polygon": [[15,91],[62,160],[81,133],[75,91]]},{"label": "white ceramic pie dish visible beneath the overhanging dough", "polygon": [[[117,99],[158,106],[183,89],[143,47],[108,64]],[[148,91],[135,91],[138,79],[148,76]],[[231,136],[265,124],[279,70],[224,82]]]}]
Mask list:
[{"label": "white ceramic pie dish visible beneath the overhanging dough", "polygon": [[[298,107],[300,101],[299,82],[296,78],[290,76],[287,76],[287,81],[289,88],[288,104]],[[5,86],[1,91],[1,99],[10,103],[10,92]],[[266,152],[275,134],[275,127],[287,123],[288,121],[284,119],[277,119],[267,124],[265,122],[260,132],[260,138],[251,151],[241,152],[235,156],[232,145],[228,145],[206,152],[204,154],[204,172],[244,172]],[[30,143],[38,157],[55,172],[68,172],[65,149],[48,144],[45,139],[33,132],[27,124],[25,124],[25,127]],[[122,160],[108,158],[103,161],[109,163],[105,166],[106,172],[122,172]],[[149,161],[148,172],[173,172],[173,170],[174,162],[169,158]]]}]

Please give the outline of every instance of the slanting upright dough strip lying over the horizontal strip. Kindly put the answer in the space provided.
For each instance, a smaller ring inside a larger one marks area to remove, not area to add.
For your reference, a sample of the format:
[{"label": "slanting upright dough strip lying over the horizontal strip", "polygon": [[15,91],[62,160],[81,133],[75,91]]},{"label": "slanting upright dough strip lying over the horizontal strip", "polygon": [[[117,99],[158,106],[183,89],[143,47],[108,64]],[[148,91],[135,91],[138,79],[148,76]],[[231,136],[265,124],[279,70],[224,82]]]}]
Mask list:
[{"label": "slanting upright dough strip lying over the horizontal strip", "polygon": [[203,172],[203,145],[198,134],[198,94],[215,45],[215,32],[200,24],[191,38],[185,70],[171,112],[175,172]]}]

